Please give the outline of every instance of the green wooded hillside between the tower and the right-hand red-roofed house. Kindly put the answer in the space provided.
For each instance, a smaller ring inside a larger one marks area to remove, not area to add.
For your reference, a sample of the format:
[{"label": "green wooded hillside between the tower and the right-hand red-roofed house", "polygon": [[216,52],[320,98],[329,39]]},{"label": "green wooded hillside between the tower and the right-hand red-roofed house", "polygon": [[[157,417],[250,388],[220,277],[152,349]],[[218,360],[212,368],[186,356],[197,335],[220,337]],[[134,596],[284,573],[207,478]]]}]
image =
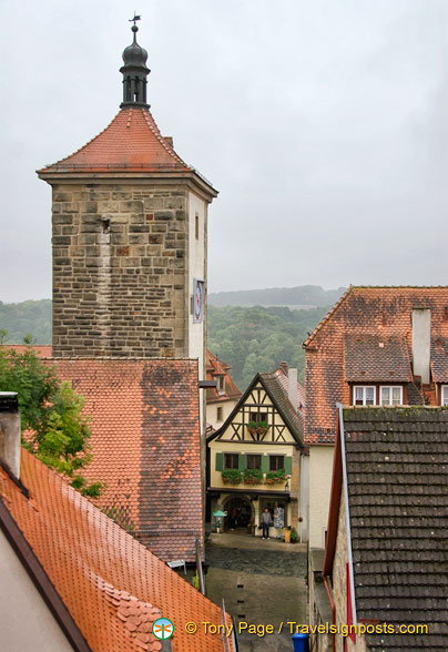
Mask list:
[{"label": "green wooded hillside between the tower and the right-hand red-roofed house", "polygon": [[257,371],[274,371],[286,361],[303,379],[305,352],[302,343],[329,307],[292,310],[261,306],[208,307],[207,346],[232,366],[231,375],[244,390]]}]

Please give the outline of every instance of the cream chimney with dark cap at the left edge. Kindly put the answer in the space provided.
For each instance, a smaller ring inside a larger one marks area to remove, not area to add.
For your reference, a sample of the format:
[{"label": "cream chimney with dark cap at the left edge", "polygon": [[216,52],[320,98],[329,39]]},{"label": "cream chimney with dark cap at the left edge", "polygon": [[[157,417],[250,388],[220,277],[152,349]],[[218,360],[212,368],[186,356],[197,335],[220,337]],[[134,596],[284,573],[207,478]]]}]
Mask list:
[{"label": "cream chimney with dark cap at the left edge", "polygon": [[0,391],[0,462],[20,478],[20,415],[16,391]]}]

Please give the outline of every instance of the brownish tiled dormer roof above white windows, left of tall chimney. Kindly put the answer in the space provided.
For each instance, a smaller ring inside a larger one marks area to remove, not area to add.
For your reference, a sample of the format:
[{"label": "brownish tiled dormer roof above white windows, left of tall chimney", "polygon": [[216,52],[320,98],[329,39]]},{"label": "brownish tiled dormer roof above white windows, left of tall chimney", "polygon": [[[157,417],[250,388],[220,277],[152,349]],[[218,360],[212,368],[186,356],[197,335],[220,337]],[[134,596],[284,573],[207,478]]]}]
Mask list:
[{"label": "brownish tiled dormer roof above white windows, left of tall chimney", "polygon": [[346,335],[344,367],[345,379],[352,383],[413,380],[409,353],[404,337]]}]

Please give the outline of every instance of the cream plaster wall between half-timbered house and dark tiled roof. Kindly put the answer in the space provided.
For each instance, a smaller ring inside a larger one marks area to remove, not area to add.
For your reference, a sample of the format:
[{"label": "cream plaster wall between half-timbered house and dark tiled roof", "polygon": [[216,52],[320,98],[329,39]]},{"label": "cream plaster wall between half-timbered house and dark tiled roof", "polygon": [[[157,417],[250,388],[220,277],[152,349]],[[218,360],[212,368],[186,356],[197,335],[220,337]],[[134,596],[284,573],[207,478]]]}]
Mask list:
[{"label": "cream plaster wall between half-timbered house and dark tiled roof", "polygon": [[325,548],[334,446],[309,447],[309,548]]}]

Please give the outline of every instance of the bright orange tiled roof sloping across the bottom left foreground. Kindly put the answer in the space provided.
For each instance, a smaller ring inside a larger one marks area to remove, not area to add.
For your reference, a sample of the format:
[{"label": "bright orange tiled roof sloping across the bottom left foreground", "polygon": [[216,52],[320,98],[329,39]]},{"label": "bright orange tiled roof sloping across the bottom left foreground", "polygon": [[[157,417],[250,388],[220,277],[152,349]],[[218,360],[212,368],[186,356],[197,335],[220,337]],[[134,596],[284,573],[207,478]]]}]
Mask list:
[{"label": "bright orange tiled roof sloping across the bottom left foreground", "polygon": [[220,636],[206,636],[203,628],[195,635],[184,629],[190,621],[221,624],[220,608],[27,450],[21,482],[29,498],[0,467],[0,506],[17,523],[31,547],[29,554],[40,562],[90,650],[161,650],[152,624],[163,615],[174,623],[173,652],[222,652]]}]

